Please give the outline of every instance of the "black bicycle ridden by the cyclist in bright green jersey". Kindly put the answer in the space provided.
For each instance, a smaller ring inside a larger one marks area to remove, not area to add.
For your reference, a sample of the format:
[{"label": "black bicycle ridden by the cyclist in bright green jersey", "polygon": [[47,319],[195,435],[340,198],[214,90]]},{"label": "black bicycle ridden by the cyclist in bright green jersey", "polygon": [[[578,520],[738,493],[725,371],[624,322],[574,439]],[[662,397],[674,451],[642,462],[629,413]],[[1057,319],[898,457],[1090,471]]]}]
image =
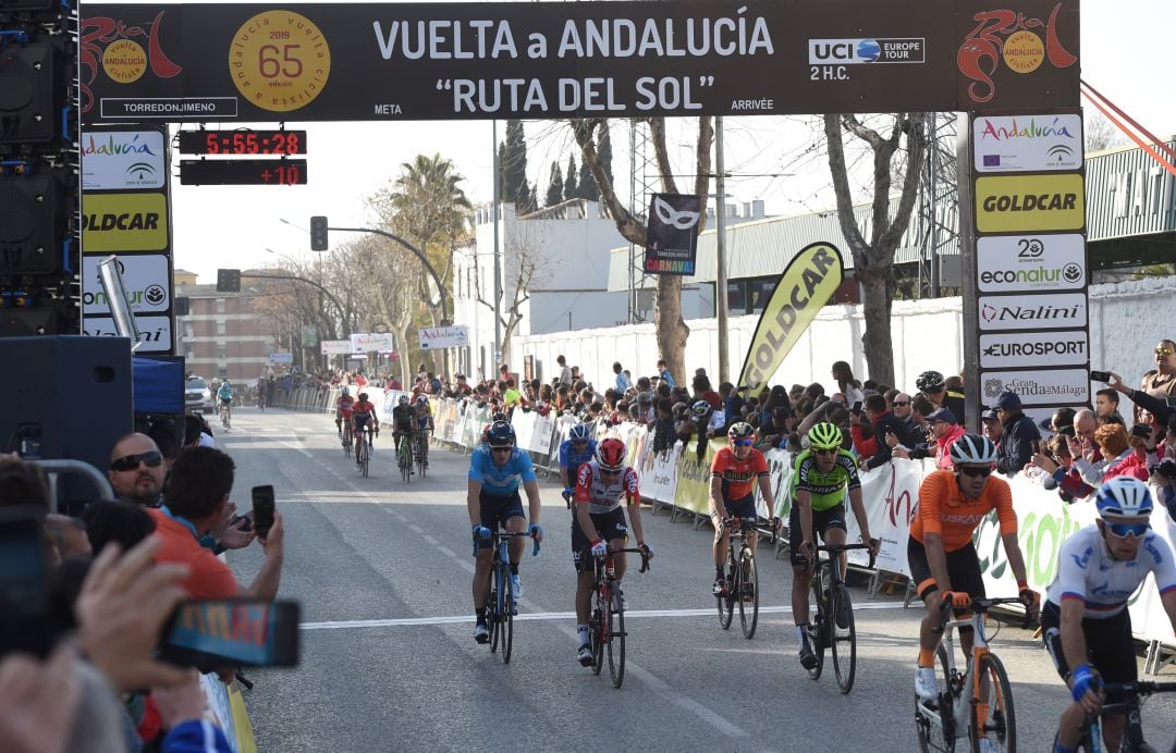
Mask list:
[{"label": "black bicycle ridden by the cyclist in bright green jersey", "polygon": [[[809,625],[809,644],[816,655],[816,665],[807,670],[814,680],[821,678],[824,668],[824,650],[829,650],[837,688],[844,694],[854,688],[857,673],[857,628],[854,626],[854,603],[849,589],[841,577],[842,552],[854,549],[870,549],[870,544],[836,544],[816,547],[817,560],[813,566],[813,599],[816,614]],[[820,552],[829,556],[821,559]],[[874,567],[870,556],[869,567]],[[840,619],[838,619],[840,618]]]}]

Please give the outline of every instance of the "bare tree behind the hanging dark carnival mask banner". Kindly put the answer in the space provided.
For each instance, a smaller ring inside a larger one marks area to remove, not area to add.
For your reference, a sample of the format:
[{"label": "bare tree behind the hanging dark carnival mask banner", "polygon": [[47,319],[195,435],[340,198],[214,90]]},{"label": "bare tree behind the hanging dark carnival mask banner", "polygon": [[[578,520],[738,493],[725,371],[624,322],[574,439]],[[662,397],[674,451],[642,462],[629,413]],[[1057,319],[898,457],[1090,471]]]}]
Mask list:
[{"label": "bare tree behind the hanging dark carnival mask banner", "polygon": [[[597,132],[606,121],[602,119],[573,120],[572,133],[584,162],[589,164],[593,181],[600,189],[601,200],[604,203],[609,216],[616,223],[616,229],[621,237],[644,247],[648,226],[640,218],[629,214],[628,208],[617,199],[616,190],[597,150]],[[674,180],[674,168],[669,160],[669,152],[666,148],[666,119],[650,117],[649,140],[654,147],[654,156],[657,161],[657,172],[661,173],[662,190],[669,194],[679,193],[677,182]],[[697,224],[701,233],[704,217],[707,216],[707,194],[710,193],[710,148],[715,140],[714,120],[703,115],[699,117],[699,137],[695,143],[694,164],[694,194],[701,199],[701,211],[703,220]],[[666,359],[670,372],[680,379],[686,378],[686,341],[690,336],[690,328],[682,321],[682,277],[679,275],[661,275],[657,277],[657,297],[654,308],[654,324],[657,331],[657,349],[661,357]]]}]

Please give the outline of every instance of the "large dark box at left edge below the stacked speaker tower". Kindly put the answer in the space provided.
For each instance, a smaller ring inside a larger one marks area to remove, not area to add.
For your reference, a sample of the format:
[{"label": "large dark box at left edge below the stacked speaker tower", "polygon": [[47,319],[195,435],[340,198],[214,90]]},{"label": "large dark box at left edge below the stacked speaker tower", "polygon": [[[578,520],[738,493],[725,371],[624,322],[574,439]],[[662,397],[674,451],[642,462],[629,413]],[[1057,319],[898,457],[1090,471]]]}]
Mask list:
[{"label": "large dark box at left edge below the stacked speaker tower", "polygon": [[[5,337],[0,363],[0,449],[82,460],[105,477],[111,449],[134,425],[131,339]],[[98,496],[76,475],[59,478],[62,509]]]}]

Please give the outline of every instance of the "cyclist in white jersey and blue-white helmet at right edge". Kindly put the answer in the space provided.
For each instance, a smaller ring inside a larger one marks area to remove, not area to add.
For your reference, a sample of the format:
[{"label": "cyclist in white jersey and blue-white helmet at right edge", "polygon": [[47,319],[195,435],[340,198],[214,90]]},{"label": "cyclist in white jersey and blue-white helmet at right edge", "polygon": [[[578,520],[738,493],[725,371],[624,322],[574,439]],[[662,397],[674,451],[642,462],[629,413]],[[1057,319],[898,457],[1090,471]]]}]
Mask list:
[{"label": "cyclist in white jersey and blue-white helmet at right edge", "polygon": [[[1176,630],[1176,564],[1171,547],[1151,531],[1151,492],[1134,476],[1117,476],[1095,497],[1098,519],[1062,544],[1057,576],[1045,591],[1042,639],[1074,698],[1062,713],[1055,751],[1078,744],[1087,714],[1103,704],[1101,681],[1135,683],[1138,667],[1127,601],[1155,574],[1160,598]],[[1117,751],[1123,714],[1103,720],[1108,751]]]}]

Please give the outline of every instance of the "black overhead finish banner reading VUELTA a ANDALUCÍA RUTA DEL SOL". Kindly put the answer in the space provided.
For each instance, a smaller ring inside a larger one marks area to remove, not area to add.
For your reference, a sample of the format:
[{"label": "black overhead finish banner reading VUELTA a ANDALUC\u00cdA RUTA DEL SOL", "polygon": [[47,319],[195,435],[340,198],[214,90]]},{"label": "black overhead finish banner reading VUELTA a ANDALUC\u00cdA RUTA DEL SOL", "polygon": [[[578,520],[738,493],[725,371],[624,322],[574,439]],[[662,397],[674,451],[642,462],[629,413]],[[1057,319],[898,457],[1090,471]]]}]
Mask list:
[{"label": "black overhead finish banner reading VUELTA a ANDALUC\u00cdA RUTA DEL SOL", "polygon": [[85,123],[1080,105],[1078,0],[86,4],[81,13]]}]

